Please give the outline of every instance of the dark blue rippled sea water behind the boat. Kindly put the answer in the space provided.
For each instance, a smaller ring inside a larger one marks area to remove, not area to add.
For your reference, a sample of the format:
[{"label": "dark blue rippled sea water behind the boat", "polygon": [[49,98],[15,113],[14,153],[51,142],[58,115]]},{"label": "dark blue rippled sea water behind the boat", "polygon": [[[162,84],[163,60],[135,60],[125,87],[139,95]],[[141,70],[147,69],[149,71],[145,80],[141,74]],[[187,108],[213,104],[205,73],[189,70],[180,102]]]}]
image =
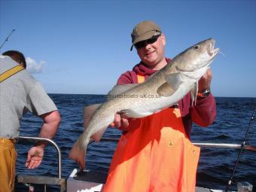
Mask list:
[{"label": "dark blue rippled sea water behind the boat", "polygon": [[[105,96],[50,94],[50,97],[59,108],[62,118],[59,130],[53,140],[59,145],[62,153],[62,178],[68,178],[72,170],[78,168],[78,165],[69,160],[68,156],[72,145],[84,130],[82,109],[84,105],[104,102]],[[256,99],[216,97],[216,104],[217,117],[215,122],[207,128],[194,124],[191,133],[192,142],[241,144],[254,105],[256,105]],[[40,118],[32,114],[26,114],[21,121],[20,136],[38,136],[41,123]],[[120,130],[108,128],[104,136],[119,138]],[[248,135],[248,143],[256,145],[256,122],[252,124],[251,132]],[[115,142],[99,142],[90,145],[87,151],[87,169],[108,172],[116,145]],[[57,176],[58,158],[55,148],[50,145],[45,150],[41,166],[38,169],[26,169],[24,164],[27,151],[31,146],[31,142],[19,142],[17,144],[17,175]],[[238,154],[238,149],[201,148],[197,186],[224,190],[233,172]],[[242,152],[233,184],[230,187],[231,190],[236,189],[238,181],[250,182],[254,185],[254,191],[256,191],[256,152]],[[27,191],[27,189],[23,184],[17,184],[16,191]],[[43,191],[43,189],[44,187],[35,187],[35,191]],[[59,191],[59,188],[50,186],[47,191]]]}]

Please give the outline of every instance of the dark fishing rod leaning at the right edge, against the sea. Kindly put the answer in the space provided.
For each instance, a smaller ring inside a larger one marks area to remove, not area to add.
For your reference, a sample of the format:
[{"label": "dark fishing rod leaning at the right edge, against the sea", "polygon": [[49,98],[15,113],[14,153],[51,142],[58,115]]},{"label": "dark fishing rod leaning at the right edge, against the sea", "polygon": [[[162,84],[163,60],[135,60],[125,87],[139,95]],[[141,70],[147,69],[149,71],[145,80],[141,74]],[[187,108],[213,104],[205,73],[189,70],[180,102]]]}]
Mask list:
[{"label": "dark fishing rod leaning at the right edge, against the sea", "polygon": [[236,167],[238,166],[240,157],[241,157],[241,155],[242,155],[242,150],[245,148],[245,141],[246,141],[246,139],[247,139],[247,137],[248,137],[248,133],[249,133],[249,131],[251,130],[251,125],[252,125],[252,121],[254,120],[254,113],[255,113],[255,111],[256,111],[256,105],[254,106],[254,111],[253,111],[253,113],[252,113],[252,115],[251,115],[251,119],[250,119],[250,121],[249,121],[247,131],[246,131],[246,133],[245,133],[245,139],[243,139],[243,141],[242,141],[241,149],[240,149],[240,151],[239,151],[239,155],[238,155],[238,157],[237,157],[236,164],[235,164],[235,166],[234,166],[234,168],[233,168],[233,173],[232,173],[232,175],[231,175],[231,177],[230,177],[230,180],[227,182],[227,187],[226,187],[225,192],[228,192],[228,189],[230,188],[230,185],[231,185],[232,182],[233,182],[233,176],[235,175]]}]

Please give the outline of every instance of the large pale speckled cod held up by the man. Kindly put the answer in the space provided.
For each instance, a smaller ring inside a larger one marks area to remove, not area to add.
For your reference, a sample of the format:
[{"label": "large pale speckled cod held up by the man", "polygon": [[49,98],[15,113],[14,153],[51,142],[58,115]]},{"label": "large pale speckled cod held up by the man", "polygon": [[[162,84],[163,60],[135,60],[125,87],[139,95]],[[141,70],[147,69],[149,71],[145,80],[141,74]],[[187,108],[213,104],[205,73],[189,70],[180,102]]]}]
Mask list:
[{"label": "large pale speckled cod held up by the man", "polygon": [[116,85],[108,93],[108,101],[84,108],[84,133],[73,145],[69,157],[84,169],[84,157],[90,140],[99,142],[114,121],[114,114],[140,118],[174,105],[188,92],[196,101],[198,81],[209,69],[219,49],[215,40],[201,41],[178,56],[142,84]]}]

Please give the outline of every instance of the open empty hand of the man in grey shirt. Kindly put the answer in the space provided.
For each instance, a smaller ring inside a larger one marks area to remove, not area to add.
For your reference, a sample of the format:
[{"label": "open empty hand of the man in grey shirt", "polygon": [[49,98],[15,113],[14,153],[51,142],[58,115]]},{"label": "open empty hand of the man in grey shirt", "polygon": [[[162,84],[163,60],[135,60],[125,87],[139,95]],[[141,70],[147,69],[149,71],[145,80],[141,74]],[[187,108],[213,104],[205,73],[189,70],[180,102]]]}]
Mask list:
[{"label": "open empty hand of the man in grey shirt", "polygon": [[41,146],[34,146],[28,151],[28,158],[26,159],[26,167],[28,169],[35,169],[43,160],[44,157],[44,148]]}]

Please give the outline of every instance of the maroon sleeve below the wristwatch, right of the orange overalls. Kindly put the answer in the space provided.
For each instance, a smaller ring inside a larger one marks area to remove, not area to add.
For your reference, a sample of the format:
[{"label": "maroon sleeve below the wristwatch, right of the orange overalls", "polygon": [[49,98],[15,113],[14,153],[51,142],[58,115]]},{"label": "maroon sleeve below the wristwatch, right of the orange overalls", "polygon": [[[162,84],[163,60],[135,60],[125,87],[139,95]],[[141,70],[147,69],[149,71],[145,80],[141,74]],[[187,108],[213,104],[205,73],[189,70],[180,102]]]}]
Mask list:
[{"label": "maroon sleeve below the wristwatch, right of the orange overalls", "polygon": [[199,126],[209,126],[216,117],[216,102],[212,93],[206,98],[197,99],[197,104],[190,107],[191,120]]}]

